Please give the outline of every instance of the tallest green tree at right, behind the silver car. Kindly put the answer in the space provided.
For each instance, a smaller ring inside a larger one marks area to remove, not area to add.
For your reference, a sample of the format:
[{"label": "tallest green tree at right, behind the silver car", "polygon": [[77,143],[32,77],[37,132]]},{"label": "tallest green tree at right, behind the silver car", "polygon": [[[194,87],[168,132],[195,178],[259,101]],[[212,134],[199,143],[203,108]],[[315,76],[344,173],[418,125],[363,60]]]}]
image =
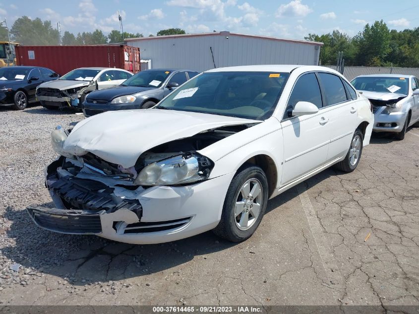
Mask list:
[{"label": "tallest green tree at right, behind the silver car", "polygon": [[366,24],[355,40],[359,46],[357,62],[361,65],[381,66],[390,53],[390,30],[386,23]]}]

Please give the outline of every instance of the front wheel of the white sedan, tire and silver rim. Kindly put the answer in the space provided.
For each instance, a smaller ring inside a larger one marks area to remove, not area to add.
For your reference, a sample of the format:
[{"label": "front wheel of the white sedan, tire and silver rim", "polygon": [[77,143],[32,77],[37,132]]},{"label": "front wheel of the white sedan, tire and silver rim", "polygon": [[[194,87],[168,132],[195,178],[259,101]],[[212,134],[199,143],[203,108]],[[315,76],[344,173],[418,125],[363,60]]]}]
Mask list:
[{"label": "front wheel of the white sedan, tire and silver rim", "polygon": [[230,183],[214,233],[232,242],[250,238],[262,220],[267,201],[268,180],[263,170],[253,165],[241,168]]}]

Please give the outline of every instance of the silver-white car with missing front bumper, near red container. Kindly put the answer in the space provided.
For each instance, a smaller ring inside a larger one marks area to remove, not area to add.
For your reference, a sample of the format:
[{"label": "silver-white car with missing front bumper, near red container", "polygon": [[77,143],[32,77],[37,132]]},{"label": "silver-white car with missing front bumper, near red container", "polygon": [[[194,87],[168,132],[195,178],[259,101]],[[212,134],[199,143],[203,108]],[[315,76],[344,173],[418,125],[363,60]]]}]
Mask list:
[{"label": "silver-white car with missing front bumper, near red container", "polygon": [[91,91],[115,87],[133,74],[120,68],[80,67],[45,82],[36,88],[36,98],[47,109],[71,107],[81,109],[86,95]]}]

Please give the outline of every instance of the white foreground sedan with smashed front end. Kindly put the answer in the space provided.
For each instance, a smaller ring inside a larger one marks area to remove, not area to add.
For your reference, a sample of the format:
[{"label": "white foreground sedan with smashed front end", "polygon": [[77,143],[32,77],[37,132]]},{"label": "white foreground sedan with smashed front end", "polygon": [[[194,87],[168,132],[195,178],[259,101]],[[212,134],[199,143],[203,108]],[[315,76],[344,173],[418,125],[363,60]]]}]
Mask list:
[{"label": "white foreground sedan with smashed front end", "polygon": [[217,68],[148,110],[58,126],[46,168],[55,208],[40,227],[133,244],[208,230],[249,238],[269,198],[335,165],[354,171],[369,144],[369,101],[321,66]]}]

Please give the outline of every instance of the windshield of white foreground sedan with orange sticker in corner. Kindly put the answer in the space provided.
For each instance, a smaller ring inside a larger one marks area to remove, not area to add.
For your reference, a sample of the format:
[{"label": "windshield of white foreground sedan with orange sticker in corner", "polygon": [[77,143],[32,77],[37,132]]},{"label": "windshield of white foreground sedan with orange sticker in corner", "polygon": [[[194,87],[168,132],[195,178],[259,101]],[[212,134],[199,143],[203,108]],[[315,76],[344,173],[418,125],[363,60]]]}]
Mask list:
[{"label": "windshield of white foreground sedan with orange sticker in corner", "polygon": [[265,120],[274,112],[289,75],[203,73],[171,93],[157,108]]}]

